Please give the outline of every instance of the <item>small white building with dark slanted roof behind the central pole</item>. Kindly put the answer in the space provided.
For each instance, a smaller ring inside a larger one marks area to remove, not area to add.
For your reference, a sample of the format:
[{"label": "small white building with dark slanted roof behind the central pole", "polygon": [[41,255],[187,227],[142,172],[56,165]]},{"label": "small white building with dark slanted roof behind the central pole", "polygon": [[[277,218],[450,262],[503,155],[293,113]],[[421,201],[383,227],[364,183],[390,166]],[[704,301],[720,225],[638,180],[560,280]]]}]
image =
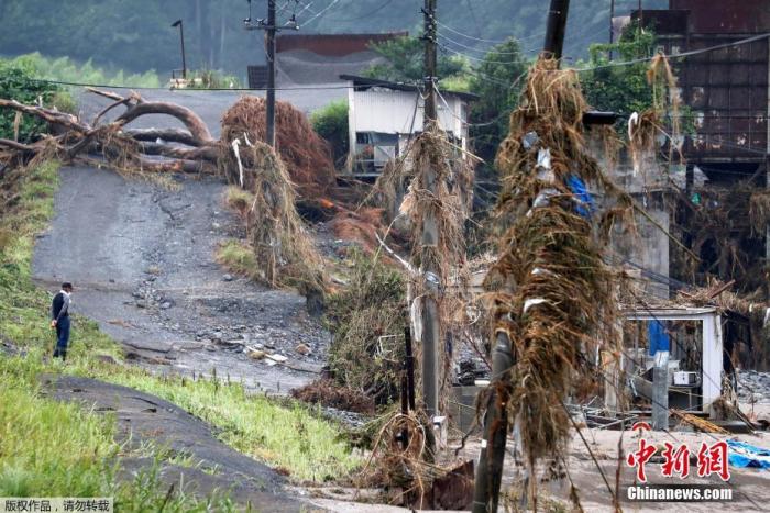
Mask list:
[{"label": "small white building with dark slanted roof behind the central pole", "polygon": [[[417,86],[356,75],[341,75],[348,89],[349,171],[375,177],[388,160],[406,148],[420,132],[425,99]],[[452,143],[468,145],[469,103],[479,99],[468,92],[441,91],[438,120]]]}]

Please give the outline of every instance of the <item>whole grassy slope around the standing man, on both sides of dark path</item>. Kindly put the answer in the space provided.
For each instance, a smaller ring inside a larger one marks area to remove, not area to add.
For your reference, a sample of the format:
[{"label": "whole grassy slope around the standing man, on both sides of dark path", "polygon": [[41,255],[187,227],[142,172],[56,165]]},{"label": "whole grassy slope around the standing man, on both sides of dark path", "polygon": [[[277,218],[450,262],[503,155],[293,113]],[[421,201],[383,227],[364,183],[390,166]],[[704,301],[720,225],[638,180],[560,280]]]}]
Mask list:
[{"label": "whole grassy slope around the standing man, on both sides of dark path", "polygon": [[[51,482],[53,487],[74,470],[84,478],[77,487],[68,488],[69,494],[91,494],[94,490],[110,494],[108,492],[117,490],[111,481],[112,473],[105,467],[109,455],[118,450],[111,442],[111,423],[81,413],[75,406],[42,398],[36,384],[41,372],[89,376],[157,394],[217,426],[224,443],[288,471],[296,480],[322,481],[341,477],[360,464],[349,446],[338,439],[339,426],[319,420],[299,404],[278,404],[264,397],[246,395],[239,384],[154,377],[135,367],[98,361],[99,354],[120,360],[120,350],[99,332],[96,323],[82,317],[75,319],[72,358],[67,366],[44,361],[42,356],[50,354],[53,347],[53,334],[47,325],[50,297],[32,283],[31,259],[34,235],[45,228],[53,213],[57,168],[55,163],[47,163],[28,170],[18,187],[21,190],[19,201],[10,211],[6,208],[0,218],[0,294],[3,297],[0,336],[29,352],[25,358],[0,357],[3,388],[0,439],[6,444],[0,445],[0,495],[13,490],[47,490],[38,488],[42,482]],[[37,442],[16,436],[22,431],[15,422],[30,411],[40,415],[38,428],[34,431],[40,438]],[[87,436],[77,434],[81,426],[88,427]],[[74,459],[57,458],[61,453],[56,450],[44,455],[40,464],[25,459],[25,455],[36,454],[38,443],[53,444],[51,437],[59,436],[50,433],[55,430],[61,431]],[[13,486],[3,489],[3,483]],[[147,493],[152,495],[152,491]],[[133,490],[127,492],[125,498],[133,500],[145,495]]]}]

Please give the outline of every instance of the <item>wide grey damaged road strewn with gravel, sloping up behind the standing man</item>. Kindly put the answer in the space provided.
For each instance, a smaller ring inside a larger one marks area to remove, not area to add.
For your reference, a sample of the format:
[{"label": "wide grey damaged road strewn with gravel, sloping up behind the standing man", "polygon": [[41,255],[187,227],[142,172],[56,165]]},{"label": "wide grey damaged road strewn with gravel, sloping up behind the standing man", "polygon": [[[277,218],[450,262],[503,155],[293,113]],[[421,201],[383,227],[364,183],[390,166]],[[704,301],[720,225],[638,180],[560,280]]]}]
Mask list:
[{"label": "wide grey damaged road strewn with gravel, sloping up behind the standing man", "polygon": [[[243,230],[224,209],[224,183],[177,182],[168,190],[107,169],[63,168],[55,218],[36,243],[34,279],[52,292],[73,281],[73,310],[153,371],[216,372],[271,392],[311,381],[328,332],[299,294],[232,277],[215,261],[217,245]],[[77,326],[73,333],[77,345]],[[300,344],[310,353],[298,353]],[[254,360],[249,347],[287,359]]]}]

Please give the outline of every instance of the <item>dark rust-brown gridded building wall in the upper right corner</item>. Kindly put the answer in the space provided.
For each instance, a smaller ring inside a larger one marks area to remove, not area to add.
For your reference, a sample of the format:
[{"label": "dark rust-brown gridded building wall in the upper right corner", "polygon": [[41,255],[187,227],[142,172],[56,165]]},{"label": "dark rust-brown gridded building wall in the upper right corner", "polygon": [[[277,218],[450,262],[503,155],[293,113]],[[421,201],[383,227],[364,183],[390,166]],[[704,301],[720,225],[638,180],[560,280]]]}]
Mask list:
[{"label": "dark rust-brown gridded building wall in the upper right corner", "polygon": [[[770,32],[770,0],[672,0],[671,10],[634,12],[668,54],[735,43]],[[691,163],[756,164],[766,159],[770,38],[673,59],[682,100],[695,118]]]}]

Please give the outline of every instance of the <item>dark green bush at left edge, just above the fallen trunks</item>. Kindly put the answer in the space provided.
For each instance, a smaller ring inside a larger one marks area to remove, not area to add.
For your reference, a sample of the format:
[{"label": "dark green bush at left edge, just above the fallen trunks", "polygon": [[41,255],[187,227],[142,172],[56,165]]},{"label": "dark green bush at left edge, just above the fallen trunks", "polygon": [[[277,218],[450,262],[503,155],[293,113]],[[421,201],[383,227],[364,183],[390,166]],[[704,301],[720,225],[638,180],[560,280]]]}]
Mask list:
[{"label": "dark green bush at left edge, just above the fallen trunks", "polygon": [[[57,91],[56,86],[33,80],[34,67],[25,62],[0,59],[0,98],[21,103],[36,103],[38,98],[48,103]],[[13,138],[15,111],[0,109],[0,137]],[[46,131],[45,123],[30,115],[22,115],[19,141],[31,142],[36,134]]]}]

